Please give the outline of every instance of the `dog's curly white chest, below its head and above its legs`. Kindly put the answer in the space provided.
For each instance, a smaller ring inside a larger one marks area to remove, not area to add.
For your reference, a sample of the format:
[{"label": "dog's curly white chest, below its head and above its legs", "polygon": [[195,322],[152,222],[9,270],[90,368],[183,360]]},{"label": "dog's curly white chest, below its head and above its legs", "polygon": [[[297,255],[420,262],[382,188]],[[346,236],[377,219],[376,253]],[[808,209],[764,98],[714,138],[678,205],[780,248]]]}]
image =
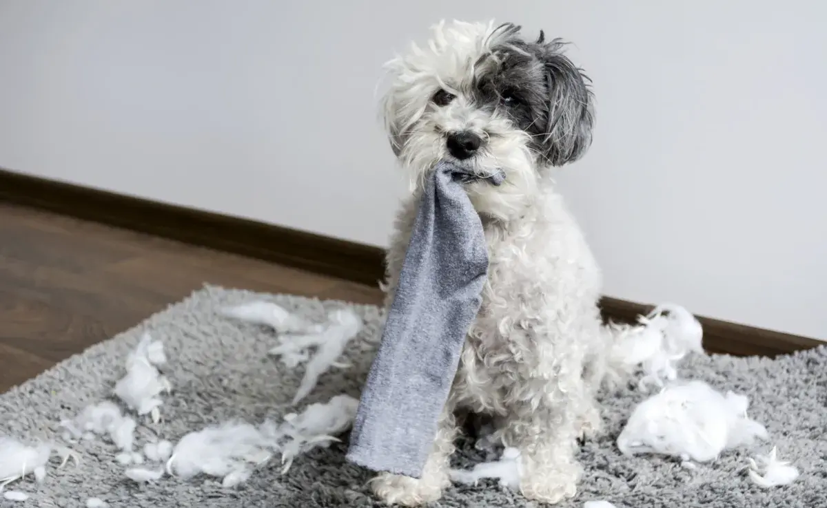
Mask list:
[{"label": "dog's curly white chest, below its head and above its legs", "polygon": [[456,384],[476,411],[507,411],[515,394],[542,392],[530,386],[547,382],[537,373],[577,361],[564,360],[566,343],[594,320],[599,269],[571,217],[557,212],[527,230],[486,230],[490,268]]}]

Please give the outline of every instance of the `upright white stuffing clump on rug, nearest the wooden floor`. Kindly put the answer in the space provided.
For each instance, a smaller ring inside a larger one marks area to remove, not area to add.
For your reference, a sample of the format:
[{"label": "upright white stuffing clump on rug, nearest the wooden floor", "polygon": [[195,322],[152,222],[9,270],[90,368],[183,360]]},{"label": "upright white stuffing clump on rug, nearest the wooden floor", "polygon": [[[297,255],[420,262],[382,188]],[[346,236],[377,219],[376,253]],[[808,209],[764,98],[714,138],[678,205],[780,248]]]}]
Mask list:
[{"label": "upright white stuffing clump on rug, nearest the wooden floor", "polygon": [[116,383],[114,391],[132,411],[151,415],[156,423],[160,420],[160,393],[170,391],[169,380],[158,370],[165,362],[163,343],[144,334],[127,356],[127,375]]}]

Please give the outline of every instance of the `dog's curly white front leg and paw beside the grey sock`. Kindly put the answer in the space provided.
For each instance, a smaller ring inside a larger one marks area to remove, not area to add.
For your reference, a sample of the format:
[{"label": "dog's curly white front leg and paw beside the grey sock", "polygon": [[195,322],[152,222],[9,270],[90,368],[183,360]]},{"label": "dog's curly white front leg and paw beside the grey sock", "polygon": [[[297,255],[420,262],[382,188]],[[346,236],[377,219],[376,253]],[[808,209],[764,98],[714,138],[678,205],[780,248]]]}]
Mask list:
[{"label": "dog's curly white front leg and paw beside the grey sock", "polygon": [[452,405],[447,405],[439,418],[437,434],[422,477],[381,473],[370,480],[375,495],[389,505],[420,506],[437,501],[442,497],[442,490],[451,484],[449,459],[454,453],[456,436],[457,419]]}]

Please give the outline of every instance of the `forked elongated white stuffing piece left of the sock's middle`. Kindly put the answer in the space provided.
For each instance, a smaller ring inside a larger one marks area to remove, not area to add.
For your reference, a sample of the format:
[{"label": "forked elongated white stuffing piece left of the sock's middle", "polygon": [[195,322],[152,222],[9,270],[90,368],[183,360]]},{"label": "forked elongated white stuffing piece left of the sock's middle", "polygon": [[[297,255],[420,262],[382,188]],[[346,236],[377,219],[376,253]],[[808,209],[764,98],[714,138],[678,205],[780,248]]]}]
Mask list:
[{"label": "forked elongated white stuffing piece left of the sock's middle", "polygon": [[361,330],[361,319],[353,311],[332,311],[328,319],[329,324],[322,333],[304,337],[292,336],[290,339],[282,338],[280,346],[270,349],[270,354],[306,355],[302,349],[306,349],[308,345],[318,345],[316,353],[305,367],[304,378],[293,397],[294,405],[313,391],[318,378],[337,363],[336,358],[342,355],[347,342],[356,337]]}]

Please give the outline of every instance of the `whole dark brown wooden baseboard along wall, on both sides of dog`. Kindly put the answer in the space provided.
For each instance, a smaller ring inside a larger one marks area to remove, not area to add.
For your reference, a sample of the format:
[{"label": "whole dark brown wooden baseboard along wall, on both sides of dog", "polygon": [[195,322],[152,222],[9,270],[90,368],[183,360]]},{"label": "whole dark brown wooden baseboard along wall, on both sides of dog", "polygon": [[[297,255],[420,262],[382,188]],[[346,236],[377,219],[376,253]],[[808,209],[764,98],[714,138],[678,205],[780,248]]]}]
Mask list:
[{"label": "whole dark brown wooden baseboard along wall, on both sides of dog", "polygon": [[[97,188],[0,169],[0,201],[13,202],[184,243],[264,259],[353,282],[376,285],[384,250],[307,231],[154,202]],[[630,322],[653,306],[604,297],[605,319]],[[819,340],[699,316],[713,353],[777,356],[825,344]]]}]

